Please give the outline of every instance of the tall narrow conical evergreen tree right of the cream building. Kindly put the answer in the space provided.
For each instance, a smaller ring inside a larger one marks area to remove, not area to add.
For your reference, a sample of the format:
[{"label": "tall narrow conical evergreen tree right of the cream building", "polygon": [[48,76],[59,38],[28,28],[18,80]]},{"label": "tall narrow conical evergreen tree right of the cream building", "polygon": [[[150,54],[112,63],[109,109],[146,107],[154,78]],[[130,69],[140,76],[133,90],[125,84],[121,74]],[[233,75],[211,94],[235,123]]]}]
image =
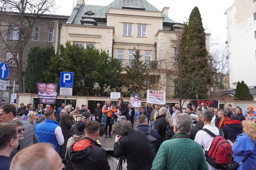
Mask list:
[{"label": "tall narrow conical evergreen tree right of the cream building", "polygon": [[207,97],[212,70],[209,65],[211,58],[208,56],[205,45],[202,18],[198,8],[195,7],[190,13],[188,25],[184,25],[180,43],[179,67],[181,68],[179,70],[182,70],[183,75],[179,78],[188,78],[187,82],[190,83],[183,82],[185,89],[182,90],[191,92],[183,95],[184,98],[204,99]]}]

